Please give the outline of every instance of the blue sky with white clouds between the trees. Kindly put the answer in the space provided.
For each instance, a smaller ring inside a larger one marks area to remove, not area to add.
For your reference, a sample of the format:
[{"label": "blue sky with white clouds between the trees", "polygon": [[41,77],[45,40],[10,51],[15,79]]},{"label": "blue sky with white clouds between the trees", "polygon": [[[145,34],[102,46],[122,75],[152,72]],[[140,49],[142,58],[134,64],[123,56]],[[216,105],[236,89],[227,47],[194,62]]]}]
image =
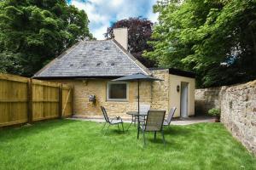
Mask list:
[{"label": "blue sky with white clouds between the trees", "polygon": [[90,32],[97,39],[104,39],[103,34],[116,20],[142,16],[157,21],[152,10],[156,0],[68,0],[68,3],[84,9],[90,20]]}]

